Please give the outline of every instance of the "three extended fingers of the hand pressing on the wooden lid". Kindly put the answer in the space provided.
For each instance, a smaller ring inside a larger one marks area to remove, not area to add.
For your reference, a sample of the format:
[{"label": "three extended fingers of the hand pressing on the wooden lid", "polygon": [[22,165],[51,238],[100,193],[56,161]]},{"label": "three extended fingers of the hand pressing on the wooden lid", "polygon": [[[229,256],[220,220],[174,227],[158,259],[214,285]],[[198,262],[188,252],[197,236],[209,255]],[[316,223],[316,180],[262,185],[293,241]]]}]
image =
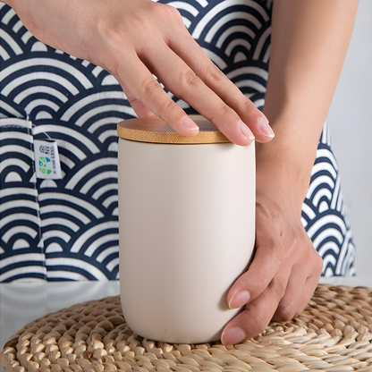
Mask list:
[{"label": "three extended fingers of the hand pressing on the wooden lid", "polygon": [[[162,11],[168,9],[164,6]],[[210,61],[184,28],[181,16],[173,17],[174,13],[168,14],[162,33],[151,35],[151,42],[140,38],[145,45],[132,49],[132,54],[127,52],[115,58],[120,61],[114,63],[120,71],[114,71],[122,86],[127,87],[126,92],[131,92],[128,96],[136,113],[156,114],[186,136],[199,131],[182,108],[162,91],[152,76],[155,74],[168,90],[207,117],[233,143],[249,145],[255,139],[249,128],[257,133],[259,141],[272,139],[274,133],[265,115]]]}]

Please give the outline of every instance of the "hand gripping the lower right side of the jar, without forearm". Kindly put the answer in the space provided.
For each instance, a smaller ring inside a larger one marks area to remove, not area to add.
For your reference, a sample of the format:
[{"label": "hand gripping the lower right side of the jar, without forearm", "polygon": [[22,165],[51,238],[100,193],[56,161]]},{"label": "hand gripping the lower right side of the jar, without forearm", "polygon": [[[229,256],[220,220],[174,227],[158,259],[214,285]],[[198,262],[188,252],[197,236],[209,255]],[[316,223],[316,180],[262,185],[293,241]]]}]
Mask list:
[{"label": "hand gripping the lower right side of the jar, without forearm", "polygon": [[256,336],[272,319],[292,319],[305,309],[317,287],[322,259],[300,222],[298,210],[291,201],[281,201],[278,204],[258,193],[255,256],[227,295],[232,309],[248,304],[224,327],[225,344]]}]

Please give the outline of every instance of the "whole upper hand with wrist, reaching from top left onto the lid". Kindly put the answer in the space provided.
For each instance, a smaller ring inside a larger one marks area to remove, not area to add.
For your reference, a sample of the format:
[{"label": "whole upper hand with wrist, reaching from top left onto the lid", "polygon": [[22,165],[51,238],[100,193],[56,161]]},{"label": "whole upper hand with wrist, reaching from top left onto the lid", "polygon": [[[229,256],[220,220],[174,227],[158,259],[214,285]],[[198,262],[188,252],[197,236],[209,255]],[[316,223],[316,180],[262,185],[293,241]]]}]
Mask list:
[{"label": "whole upper hand with wrist, reaching from top left onto the lid", "polygon": [[7,3],[39,40],[112,73],[139,116],[156,114],[185,136],[199,131],[154,74],[232,142],[274,137],[266,116],[210,61],[172,6],[150,0]]}]

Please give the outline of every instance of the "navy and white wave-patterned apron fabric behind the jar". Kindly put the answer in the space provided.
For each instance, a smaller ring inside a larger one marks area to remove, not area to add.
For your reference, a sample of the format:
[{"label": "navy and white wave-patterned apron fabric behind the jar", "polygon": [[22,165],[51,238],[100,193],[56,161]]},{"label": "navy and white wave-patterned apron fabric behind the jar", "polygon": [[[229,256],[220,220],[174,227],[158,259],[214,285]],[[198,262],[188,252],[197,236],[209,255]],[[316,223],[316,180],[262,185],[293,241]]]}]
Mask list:
[{"label": "navy and white wave-patterned apron fabric behind the jar", "polygon": [[[168,2],[260,108],[271,3]],[[0,282],[118,279],[116,124],[135,114],[113,76],[39,42],[3,3],[0,25]],[[34,140],[47,138],[57,141],[60,180],[36,177]],[[302,224],[324,259],[323,275],[354,275],[355,247],[326,125]]]}]

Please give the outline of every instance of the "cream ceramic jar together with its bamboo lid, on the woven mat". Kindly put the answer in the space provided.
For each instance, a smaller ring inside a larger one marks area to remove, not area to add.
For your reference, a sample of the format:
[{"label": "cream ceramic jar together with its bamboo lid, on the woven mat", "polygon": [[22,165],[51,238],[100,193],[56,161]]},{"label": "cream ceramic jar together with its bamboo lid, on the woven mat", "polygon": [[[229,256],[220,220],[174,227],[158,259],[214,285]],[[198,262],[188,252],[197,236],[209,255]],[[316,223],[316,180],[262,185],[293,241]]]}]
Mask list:
[{"label": "cream ceramic jar together with its bamboo lid, on the woven mat", "polygon": [[255,241],[255,148],[201,116],[195,137],[153,116],[118,124],[120,287],[133,332],[219,340],[240,309],[226,295]]}]

